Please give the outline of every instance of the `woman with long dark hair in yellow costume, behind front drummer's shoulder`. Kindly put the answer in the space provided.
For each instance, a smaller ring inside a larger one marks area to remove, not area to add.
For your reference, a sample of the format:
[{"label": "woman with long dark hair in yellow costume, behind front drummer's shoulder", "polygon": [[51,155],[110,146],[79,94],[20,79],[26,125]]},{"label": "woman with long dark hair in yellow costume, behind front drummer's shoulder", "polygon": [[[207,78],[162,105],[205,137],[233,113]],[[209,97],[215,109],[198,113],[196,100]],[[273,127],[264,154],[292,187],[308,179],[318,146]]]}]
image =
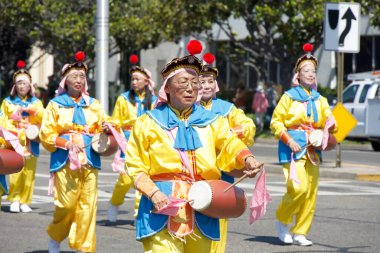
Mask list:
[{"label": "woman with long dark hair in yellow costume, behind front drummer's shoulder", "polygon": [[[137,63],[137,55],[131,55],[130,61],[133,64]],[[149,70],[140,66],[133,66],[129,70],[129,73],[131,74],[131,89],[118,97],[112,114],[112,118],[122,127],[124,136],[127,140],[129,139],[137,117],[140,117],[145,112],[151,110],[157,99],[157,97],[154,96],[154,82]],[[124,153],[125,150],[122,150],[116,155],[117,157],[115,157],[115,159],[121,158],[124,160]],[[113,166],[117,166],[116,163],[114,163]],[[124,166],[117,170],[120,171],[120,169],[124,170]],[[125,194],[127,194],[132,186],[132,179],[127,174],[120,173],[107,211],[107,218],[110,222],[115,222],[117,220],[119,206],[124,203]],[[141,194],[136,191],[135,216],[137,216],[140,198]]]}]

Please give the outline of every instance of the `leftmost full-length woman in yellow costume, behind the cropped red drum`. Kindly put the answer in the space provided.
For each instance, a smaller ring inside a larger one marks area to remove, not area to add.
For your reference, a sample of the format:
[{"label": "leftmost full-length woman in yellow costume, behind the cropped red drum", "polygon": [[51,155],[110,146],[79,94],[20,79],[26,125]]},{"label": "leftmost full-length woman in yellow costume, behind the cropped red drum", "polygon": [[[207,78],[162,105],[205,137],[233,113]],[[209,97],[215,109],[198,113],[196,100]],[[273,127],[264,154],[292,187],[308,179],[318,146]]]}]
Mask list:
[{"label": "leftmost full-length woman in yellow costume, behind the cropped red drum", "polygon": [[[42,102],[34,96],[32,77],[25,69],[25,63],[18,61],[17,67],[19,70],[13,75],[10,96],[3,100],[1,110],[17,129],[25,131],[30,125],[41,125],[44,108]],[[24,168],[9,176],[8,200],[11,202],[12,213],[32,211],[29,205],[34,191],[39,143],[27,140],[26,146],[31,155],[25,157]]]}]

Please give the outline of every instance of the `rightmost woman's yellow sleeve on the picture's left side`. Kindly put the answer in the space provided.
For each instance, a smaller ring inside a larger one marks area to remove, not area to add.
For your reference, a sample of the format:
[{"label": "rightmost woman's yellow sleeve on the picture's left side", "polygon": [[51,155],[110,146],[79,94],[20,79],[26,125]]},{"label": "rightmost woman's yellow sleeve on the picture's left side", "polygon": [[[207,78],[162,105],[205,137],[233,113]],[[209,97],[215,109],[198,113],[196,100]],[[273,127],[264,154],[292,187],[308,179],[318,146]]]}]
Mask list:
[{"label": "rightmost woman's yellow sleeve on the picture's left side", "polygon": [[286,131],[285,120],[291,103],[292,99],[289,96],[282,95],[280,101],[273,111],[272,120],[270,122],[270,129],[277,139],[280,138],[282,131]]}]

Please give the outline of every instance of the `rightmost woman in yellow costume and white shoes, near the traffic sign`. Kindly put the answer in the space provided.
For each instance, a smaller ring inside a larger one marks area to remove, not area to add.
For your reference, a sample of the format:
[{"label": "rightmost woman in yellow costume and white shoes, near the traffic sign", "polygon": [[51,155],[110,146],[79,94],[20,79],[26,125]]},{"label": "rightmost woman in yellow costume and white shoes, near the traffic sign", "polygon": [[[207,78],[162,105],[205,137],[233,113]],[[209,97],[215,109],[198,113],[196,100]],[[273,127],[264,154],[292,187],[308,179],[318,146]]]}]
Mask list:
[{"label": "rightmost woman in yellow costume and white shoes, near the traffic sign", "polygon": [[[312,50],[311,44],[304,45],[306,54],[297,60],[293,88],[281,97],[271,121],[271,130],[280,139],[279,160],[287,188],[276,212],[276,229],[283,243],[302,246],[312,245],[306,236],[317,200],[320,150],[331,139],[329,133],[337,130],[327,99],[316,89],[318,62]],[[324,130],[323,146],[318,148],[310,143],[316,129]]]}]

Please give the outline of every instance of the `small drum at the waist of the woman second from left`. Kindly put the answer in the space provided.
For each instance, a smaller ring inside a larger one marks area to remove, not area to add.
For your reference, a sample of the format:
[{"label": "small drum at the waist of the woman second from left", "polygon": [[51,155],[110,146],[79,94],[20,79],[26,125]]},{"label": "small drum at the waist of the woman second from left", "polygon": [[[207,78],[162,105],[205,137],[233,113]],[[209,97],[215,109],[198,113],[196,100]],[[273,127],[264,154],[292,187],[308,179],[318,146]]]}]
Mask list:
[{"label": "small drum at the waist of the woman second from left", "polygon": [[94,134],[91,146],[92,149],[101,156],[113,155],[119,148],[115,137],[105,133]]}]

